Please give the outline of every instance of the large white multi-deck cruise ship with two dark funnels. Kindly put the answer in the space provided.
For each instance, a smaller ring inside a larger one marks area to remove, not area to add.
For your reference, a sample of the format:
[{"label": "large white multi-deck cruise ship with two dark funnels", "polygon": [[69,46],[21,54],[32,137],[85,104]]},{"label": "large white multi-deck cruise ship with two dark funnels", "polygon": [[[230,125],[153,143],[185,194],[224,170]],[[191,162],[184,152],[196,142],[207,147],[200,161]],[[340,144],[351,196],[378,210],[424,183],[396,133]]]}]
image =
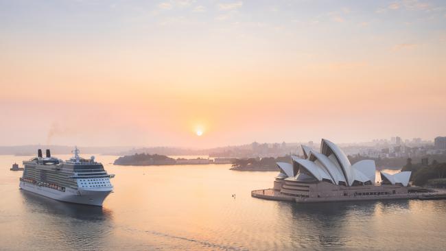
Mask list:
[{"label": "large white multi-deck cruise ship with two dark funnels", "polygon": [[63,161],[52,157],[49,150],[44,158],[39,149],[36,158],[23,161],[20,188],[62,202],[102,206],[113,191],[110,178],[115,175],[107,174],[94,156],[81,158],[79,152],[75,147],[74,156]]}]

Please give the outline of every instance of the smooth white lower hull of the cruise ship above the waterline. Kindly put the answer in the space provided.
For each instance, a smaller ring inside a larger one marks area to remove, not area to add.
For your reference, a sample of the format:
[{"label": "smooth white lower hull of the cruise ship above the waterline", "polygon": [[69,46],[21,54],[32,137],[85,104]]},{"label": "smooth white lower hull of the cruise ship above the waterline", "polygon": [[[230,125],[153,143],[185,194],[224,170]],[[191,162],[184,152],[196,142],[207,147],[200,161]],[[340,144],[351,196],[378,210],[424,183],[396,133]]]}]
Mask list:
[{"label": "smooth white lower hull of the cruise ship above the waterline", "polygon": [[51,189],[49,187],[41,187],[30,182],[20,182],[20,188],[25,191],[30,191],[38,195],[43,195],[47,198],[59,200],[61,202],[71,202],[76,204],[86,204],[91,206],[102,206],[107,195],[111,192],[110,189],[89,189],[77,190],[67,188],[65,191]]}]

